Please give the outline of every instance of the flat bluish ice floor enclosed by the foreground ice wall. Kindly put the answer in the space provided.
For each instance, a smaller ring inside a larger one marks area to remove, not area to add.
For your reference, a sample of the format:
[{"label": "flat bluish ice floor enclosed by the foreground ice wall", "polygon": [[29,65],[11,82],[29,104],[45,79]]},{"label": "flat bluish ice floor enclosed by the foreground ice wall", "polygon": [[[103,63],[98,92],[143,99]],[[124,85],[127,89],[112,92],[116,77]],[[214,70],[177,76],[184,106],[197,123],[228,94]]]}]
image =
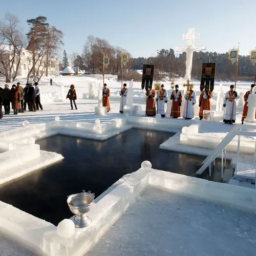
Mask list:
[{"label": "flat bluish ice floor enclosed by the foreground ice wall", "polygon": [[147,187],[86,256],[256,255],[255,213]]}]

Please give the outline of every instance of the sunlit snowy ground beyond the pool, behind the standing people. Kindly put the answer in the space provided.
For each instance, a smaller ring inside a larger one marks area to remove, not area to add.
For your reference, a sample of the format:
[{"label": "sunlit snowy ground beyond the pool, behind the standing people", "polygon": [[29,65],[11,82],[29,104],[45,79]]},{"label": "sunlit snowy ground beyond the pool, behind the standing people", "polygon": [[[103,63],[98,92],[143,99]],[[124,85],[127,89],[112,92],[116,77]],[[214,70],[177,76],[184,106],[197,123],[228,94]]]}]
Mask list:
[{"label": "sunlit snowy ground beyond the pool, behind the standing people", "polygon": [[[102,88],[103,80],[99,78],[93,78],[88,76],[56,76],[52,77],[53,79],[53,86],[50,86],[50,77],[43,77],[40,80],[40,91],[41,91],[41,103],[44,108],[43,111],[37,112],[26,112],[22,114],[18,114],[17,116],[13,116],[12,112],[9,116],[4,116],[3,119],[0,119],[0,132],[7,131],[10,129],[15,129],[18,126],[22,126],[22,122],[24,120],[29,120],[30,123],[39,123],[39,122],[46,122],[54,120],[54,117],[59,116],[61,120],[76,120],[76,121],[89,121],[93,122],[99,116],[94,115],[94,108],[98,105],[97,99],[97,90]],[[22,85],[25,86],[26,79],[20,78],[19,80],[22,82]],[[9,87],[15,82],[9,83]],[[100,117],[101,121],[113,119],[116,117],[120,117],[119,114],[119,90],[121,88],[121,82],[117,81],[115,78],[106,78],[105,82],[108,84],[108,87],[111,91],[111,112],[103,117]],[[124,81],[127,83],[129,87],[129,81]],[[177,81],[176,83],[179,84],[180,90],[184,90],[182,87],[183,81]],[[95,91],[95,98],[86,98],[89,95],[90,90],[90,83],[93,83],[94,91]],[[170,89],[170,82],[162,82],[165,85],[165,88],[168,90],[168,93],[172,92]],[[4,80],[0,78],[0,87],[4,88]],[[61,87],[60,85],[64,86],[64,96],[65,99],[60,101],[61,97]],[[77,92],[77,106],[78,110],[71,111],[69,100],[66,99],[66,95],[68,93],[69,87],[71,84],[74,84],[76,87]],[[200,95],[199,89],[199,82],[194,83],[195,87],[194,90],[196,91],[197,98]],[[223,83],[222,89],[224,93],[229,90],[230,82]],[[142,93],[141,90],[141,83],[134,82],[134,104],[142,105],[142,111],[145,111],[145,96],[144,92]],[[219,89],[219,83],[216,83],[215,90],[214,90],[214,97],[212,99],[212,109],[215,110],[215,104],[217,100],[217,93]],[[238,83],[237,84],[237,91],[240,93],[242,91],[246,92],[250,89],[250,83]],[[215,102],[215,103],[214,103]],[[167,118],[169,118],[170,112],[170,102],[167,103]],[[198,103],[197,103],[198,105]],[[198,106],[195,108],[195,115],[198,116]],[[237,110],[237,123],[240,122],[242,116],[242,108],[238,108]]]}]

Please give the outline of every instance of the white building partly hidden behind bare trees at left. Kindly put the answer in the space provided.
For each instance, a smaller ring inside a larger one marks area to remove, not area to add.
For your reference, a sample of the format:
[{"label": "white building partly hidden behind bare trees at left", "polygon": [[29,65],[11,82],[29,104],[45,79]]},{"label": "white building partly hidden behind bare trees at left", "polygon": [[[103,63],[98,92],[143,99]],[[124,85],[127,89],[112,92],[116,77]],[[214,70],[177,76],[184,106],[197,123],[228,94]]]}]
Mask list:
[{"label": "white building partly hidden behind bare trees at left", "polygon": [[[0,46],[0,53],[2,54],[2,56],[3,55],[9,56],[9,58],[11,59],[11,57],[13,56],[13,47],[2,45]],[[36,71],[38,70],[38,76],[40,76],[42,72],[43,72],[43,75],[46,75],[46,67],[44,62],[45,60],[46,60],[46,56],[42,58],[41,64],[39,60],[37,61],[35,69]],[[14,62],[14,66],[12,68],[13,74],[16,71],[16,65],[17,65],[17,60]],[[0,62],[0,68],[1,68],[1,62]],[[17,71],[17,76],[27,77],[31,68],[32,68],[32,54],[29,50],[27,50],[26,48],[23,48],[20,65]],[[59,75],[59,60],[57,56],[51,57],[49,60],[48,75],[50,76]]]}]

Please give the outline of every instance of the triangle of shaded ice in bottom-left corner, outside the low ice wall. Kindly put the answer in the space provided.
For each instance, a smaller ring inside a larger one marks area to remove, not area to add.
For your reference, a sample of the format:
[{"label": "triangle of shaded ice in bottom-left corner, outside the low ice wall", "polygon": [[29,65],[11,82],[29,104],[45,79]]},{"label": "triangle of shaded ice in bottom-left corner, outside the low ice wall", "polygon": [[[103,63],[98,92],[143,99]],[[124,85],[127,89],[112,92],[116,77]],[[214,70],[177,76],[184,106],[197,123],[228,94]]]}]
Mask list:
[{"label": "triangle of shaded ice in bottom-left corner, outside the low ice wall", "polygon": [[0,255],[1,256],[36,256],[27,249],[14,244],[0,234]]}]

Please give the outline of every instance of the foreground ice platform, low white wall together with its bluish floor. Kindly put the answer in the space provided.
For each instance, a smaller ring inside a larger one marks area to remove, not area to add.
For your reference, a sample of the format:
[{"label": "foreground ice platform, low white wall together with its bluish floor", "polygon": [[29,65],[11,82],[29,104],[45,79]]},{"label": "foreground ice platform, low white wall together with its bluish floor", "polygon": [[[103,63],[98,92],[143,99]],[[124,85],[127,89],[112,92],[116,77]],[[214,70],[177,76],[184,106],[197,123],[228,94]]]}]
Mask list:
[{"label": "foreground ice platform, low white wall together with its bluish floor", "polygon": [[88,213],[92,224],[70,238],[59,237],[51,223],[1,202],[0,231],[49,256],[254,253],[255,189],[142,163],[95,202]]}]

